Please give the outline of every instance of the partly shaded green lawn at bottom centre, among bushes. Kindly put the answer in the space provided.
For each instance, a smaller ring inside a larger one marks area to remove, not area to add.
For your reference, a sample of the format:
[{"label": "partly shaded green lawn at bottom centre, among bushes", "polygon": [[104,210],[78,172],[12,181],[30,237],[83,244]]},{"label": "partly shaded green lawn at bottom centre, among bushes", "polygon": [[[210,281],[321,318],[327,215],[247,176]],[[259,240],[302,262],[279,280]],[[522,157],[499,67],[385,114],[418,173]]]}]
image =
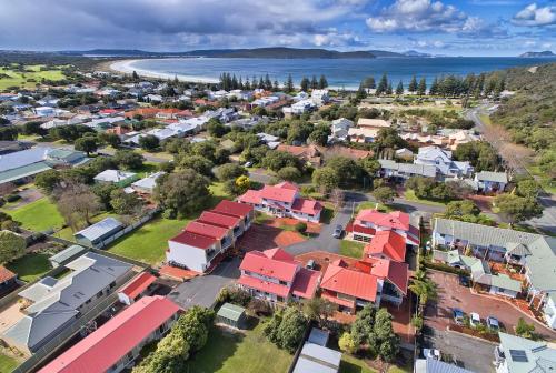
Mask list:
[{"label": "partly shaded green lawn at bottom centre, among bushes", "polygon": [[284,373],[292,359],[267,340],[262,334],[262,323],[245,335],[214,326],[207,345],[190,357],[186,372]]}]

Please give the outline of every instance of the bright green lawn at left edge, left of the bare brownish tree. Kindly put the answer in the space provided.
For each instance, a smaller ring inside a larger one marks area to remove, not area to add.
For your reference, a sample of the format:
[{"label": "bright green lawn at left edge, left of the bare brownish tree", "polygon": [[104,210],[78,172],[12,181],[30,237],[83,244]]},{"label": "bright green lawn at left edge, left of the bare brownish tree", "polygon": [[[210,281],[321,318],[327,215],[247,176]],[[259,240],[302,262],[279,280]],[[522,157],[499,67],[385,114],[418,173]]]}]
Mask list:
[{"label": "bright green lawn at left edge, left of the bare brownish tree", "polygon": [[42,198],[17,210],[6,211],[24,229],[40,232],[48,229],[60,229],[64,224],[57,206],[47,198]]}]

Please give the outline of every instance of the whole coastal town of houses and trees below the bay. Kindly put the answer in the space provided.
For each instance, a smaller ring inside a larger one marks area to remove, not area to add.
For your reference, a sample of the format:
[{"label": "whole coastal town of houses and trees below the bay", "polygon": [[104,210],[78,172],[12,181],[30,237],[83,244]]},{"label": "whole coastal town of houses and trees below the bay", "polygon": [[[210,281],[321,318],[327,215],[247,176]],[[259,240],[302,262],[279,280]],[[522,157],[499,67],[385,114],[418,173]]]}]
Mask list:
[{"label": "whole coastal town of houses and trees below the bay", "polygon": [[1,372],[556,367],[554,117],[497,124],[556,64],[346,90],[66,59],[0,57]]}]

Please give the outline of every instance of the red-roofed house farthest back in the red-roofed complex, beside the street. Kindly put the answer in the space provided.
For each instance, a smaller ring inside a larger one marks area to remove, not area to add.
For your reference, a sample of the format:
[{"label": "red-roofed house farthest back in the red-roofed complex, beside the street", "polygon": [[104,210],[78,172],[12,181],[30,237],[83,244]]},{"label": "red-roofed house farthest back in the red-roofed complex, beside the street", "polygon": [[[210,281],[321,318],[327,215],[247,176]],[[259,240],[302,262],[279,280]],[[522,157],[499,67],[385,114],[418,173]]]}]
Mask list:
[{"label": "red-roofed house farthest back in the red-roofed complex, beside the street", "polygon": [[248,190],[238,202],[250,204],[255,210],[279,218],[318,223],[322,205],[315,200],[299,196],[299,188],[290,182],[265,185],[261,190]]}]

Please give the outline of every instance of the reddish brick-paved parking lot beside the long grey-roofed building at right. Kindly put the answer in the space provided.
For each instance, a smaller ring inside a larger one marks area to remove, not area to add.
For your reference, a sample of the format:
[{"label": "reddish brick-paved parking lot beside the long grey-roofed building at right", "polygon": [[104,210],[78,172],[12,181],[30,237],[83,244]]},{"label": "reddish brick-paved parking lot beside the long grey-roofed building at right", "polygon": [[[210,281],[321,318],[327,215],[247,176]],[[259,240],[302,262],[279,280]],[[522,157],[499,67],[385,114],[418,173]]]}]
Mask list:
[{"label": "reddish brick-paved parking lot beside the long grey-roofed building at right", "polygon": [[453,309],[458,308],[467,315],[477,312],[483,322],[487,316],[495,316],[509,333],[519,317],[528,323],[535,323],[536,332],[548,339],[556,339],[556,333],[549,331],[535,319],[529,317],[515,309],[508,302],[493,296],[478,295],[470,292],[469,288],[461,286],[455,274],[429,271],[429,278],[438,285],[438,300],[431,302],[425,310],[425,323],[436,330],[446,330],[453,323]]}]

